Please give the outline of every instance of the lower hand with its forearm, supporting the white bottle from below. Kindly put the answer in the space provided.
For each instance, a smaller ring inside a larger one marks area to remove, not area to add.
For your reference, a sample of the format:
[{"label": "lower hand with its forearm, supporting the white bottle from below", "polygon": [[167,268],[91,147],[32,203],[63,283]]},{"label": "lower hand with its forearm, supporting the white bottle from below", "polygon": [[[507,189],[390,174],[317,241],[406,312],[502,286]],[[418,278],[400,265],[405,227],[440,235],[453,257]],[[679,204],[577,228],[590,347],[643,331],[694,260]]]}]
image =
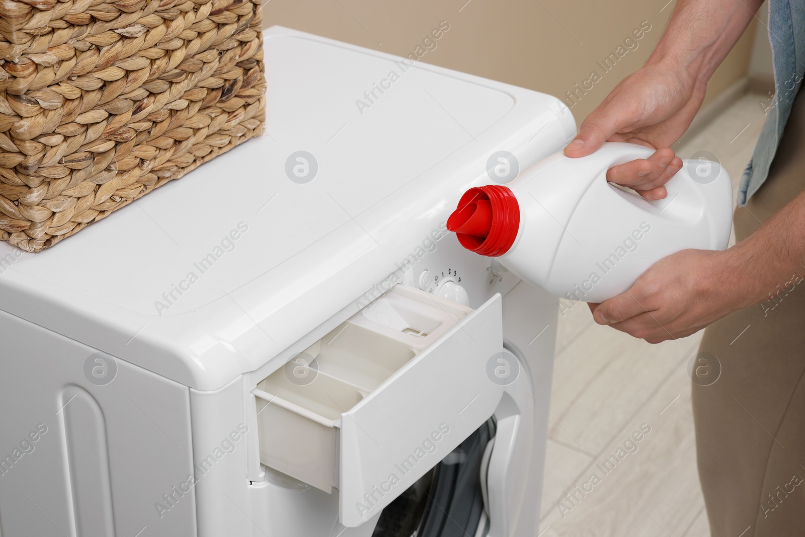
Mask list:
[{"label": "lower hand with its forearm, supporting the white bottle from below", "polygon": [[[708,324],[805,279],[805,192],[727,250],[662,258],[625,293],[589,304],[598,324],[659,343]],[[803,292],[803,291],[799,291]]]}]

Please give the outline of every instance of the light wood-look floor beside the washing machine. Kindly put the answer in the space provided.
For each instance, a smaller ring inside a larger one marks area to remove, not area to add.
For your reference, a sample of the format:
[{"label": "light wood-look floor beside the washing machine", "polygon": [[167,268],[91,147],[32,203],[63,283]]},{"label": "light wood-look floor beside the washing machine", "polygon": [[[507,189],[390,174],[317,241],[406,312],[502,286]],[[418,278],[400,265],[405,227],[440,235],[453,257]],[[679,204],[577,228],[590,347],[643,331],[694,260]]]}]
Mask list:
[{"label": "light wood-look floor beside the washing machine", "polygon": [[[710,151],[737,188],[765,119],[761,103],[741,97],[677,154]],[[701,333],[649,345],[593,323],[586,304],[563,304],[541,535],[706,537],[687,376]],[[628,455],[605,467],[619,448]]]}]

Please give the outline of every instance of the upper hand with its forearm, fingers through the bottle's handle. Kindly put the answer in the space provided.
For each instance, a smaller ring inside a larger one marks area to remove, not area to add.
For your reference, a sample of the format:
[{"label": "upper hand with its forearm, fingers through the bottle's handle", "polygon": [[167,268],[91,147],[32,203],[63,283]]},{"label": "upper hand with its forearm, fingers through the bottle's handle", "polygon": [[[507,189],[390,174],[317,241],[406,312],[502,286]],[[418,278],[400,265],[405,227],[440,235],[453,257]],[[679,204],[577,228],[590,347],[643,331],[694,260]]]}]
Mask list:
[{"label": "upper hand with its forearm, fingers through the bottle's handle", "polygon": [[564,154],[577,158],[610,142],[657,151],[613,167],[607,180],[646,200],[667,196],[666,184],[682,167],[671,144],[691,125],[710,76],[749,26],[762,0],[678,0],[663,38],[646,66],[626,77],[592,111]]}]

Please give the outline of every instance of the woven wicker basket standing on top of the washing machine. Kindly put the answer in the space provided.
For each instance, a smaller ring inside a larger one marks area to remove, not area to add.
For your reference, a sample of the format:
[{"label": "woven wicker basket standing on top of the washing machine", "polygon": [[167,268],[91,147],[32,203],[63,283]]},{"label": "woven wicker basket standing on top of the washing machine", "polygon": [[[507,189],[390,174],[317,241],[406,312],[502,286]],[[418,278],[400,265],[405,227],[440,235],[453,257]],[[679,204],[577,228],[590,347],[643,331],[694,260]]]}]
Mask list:
[{"label": "woven wicker basket standing on top of the washing machine", "polygon": [[36,252],[262,133],[259,0],[0,3],[0,238]]}]

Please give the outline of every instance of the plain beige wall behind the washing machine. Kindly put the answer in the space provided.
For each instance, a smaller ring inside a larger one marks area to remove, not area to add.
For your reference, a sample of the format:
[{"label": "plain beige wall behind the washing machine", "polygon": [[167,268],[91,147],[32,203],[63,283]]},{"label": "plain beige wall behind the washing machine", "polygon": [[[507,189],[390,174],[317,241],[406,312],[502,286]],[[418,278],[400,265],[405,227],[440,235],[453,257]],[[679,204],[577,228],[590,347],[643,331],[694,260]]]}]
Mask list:
[{"label": "plain beige wall behind the washing machine", "polygon": [[[270,0],[263,17],[266,26],[280,24],[399,56],[415,52],[440,21],[447,21],[449,30],[422,61],[557,97],[565,97],[596,71],[600,80],[592,89],[576,93],[572,111],[581,122],[646,61],[673,9],[673,2],[663,9],[666,1]],[[634,50],[605,72],[597,62],[618,52],[641,24],[650,30],[627,43]],[[708,101],[745,76],[753,38],[754,25],[716,71]]]}]

